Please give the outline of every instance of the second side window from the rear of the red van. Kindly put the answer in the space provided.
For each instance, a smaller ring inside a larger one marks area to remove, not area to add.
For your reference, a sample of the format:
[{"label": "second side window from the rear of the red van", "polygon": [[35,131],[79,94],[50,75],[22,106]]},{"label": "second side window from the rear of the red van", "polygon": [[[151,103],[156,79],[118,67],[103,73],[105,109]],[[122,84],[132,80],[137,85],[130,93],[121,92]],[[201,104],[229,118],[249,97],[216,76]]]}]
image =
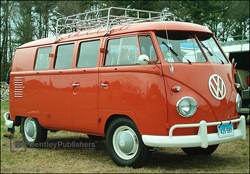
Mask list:
[{"label": "second side window from the rear of the red van", "polygon": [[69,69],[72,64],[74,44],[59,45],[57,47],[54,69]]}]

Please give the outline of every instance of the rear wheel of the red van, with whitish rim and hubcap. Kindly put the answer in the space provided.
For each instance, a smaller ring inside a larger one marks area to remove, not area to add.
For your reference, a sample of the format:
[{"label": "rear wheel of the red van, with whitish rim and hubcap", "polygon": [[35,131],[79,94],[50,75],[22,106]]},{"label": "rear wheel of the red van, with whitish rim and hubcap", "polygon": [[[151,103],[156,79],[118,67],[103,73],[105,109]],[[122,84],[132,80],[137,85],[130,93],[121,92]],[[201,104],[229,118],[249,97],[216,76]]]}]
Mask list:
[{"label": "rear wheel of the red van, with whitish rim and hubcap", "polygon": [[21,133],[28,147],[34,147],[35,143],[45,142],[47,139],[47,129],[44,129],[36,118],[22,118]]}]

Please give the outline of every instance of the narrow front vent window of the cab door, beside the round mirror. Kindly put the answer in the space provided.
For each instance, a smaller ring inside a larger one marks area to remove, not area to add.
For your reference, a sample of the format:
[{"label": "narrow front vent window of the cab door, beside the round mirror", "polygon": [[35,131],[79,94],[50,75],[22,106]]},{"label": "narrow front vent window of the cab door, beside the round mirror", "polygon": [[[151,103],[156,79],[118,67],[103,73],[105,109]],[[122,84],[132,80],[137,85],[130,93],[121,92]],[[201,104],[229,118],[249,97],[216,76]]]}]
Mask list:
[{"label": "narrow front vent window of the cab door, beside the round mirror", "polygon": [[149,57],[149,60],[157,58],[150,36],[139,36],[141,52]]}]

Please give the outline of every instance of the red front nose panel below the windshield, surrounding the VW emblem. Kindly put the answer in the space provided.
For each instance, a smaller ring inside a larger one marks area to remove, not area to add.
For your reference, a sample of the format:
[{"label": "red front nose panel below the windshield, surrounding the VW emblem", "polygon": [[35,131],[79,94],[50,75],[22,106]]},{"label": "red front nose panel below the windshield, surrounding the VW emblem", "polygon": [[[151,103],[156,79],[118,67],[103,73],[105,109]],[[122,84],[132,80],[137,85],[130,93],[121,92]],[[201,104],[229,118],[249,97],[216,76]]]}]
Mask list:
[{"label": "red front nose panel below the windshield, surrounding the VW emblem", "polygon": [[[163,65],[170,127],[175,124],[199,123],[201,120],[215,122],[238,118],[235,109],[236,91],[232,85],[231,64],[174,65],[174,74],[170,73],[169,66]],[[208,80],[212,74],[220,75],[225,82],[227,92],[223,100],[215,99],[209,91]],[[171,87],[174,85],[180,86],[181,90],[177,93],[171,91]],[[183,118],[176,110],[176,103],[183,96],[190,96],[197,101],[199,107],[192,117]],[[208,131],[216,132],[217,128],[210,128]],[[197,134],[197,129],[185,131],[178,129],[174,133],[179,135]]]}]

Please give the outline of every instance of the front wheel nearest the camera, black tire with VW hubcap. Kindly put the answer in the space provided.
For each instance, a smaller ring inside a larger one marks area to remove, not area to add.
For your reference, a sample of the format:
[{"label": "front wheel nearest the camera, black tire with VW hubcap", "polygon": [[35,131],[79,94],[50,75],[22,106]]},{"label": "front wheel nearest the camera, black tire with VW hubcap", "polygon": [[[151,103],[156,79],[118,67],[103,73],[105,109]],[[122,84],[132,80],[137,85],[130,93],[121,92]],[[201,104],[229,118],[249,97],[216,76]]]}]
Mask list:
[{"label": "front wheel nearest the camera, black tire with VW hubcap", "polygon": [[144,145],[135,123],[124,117],[115,119],[108,127],[107,149],[118,166],[139,168],[151,157],[151,148]]}]

